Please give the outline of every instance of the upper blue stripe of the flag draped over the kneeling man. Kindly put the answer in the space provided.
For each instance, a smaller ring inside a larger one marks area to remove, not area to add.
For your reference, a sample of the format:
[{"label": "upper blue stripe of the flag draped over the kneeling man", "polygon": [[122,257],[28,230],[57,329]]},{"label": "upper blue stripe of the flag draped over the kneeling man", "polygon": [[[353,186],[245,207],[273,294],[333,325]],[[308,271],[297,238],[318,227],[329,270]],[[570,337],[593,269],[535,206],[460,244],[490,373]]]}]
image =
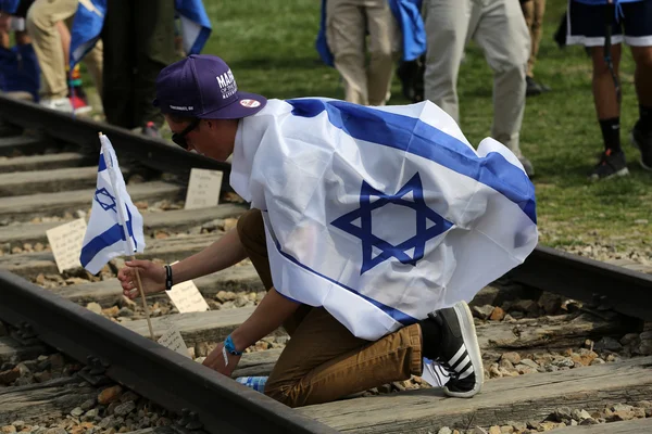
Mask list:
[{"label": "upper blue stripe of the flag draped over the kneeling man", "polygon": [[[326,112],[328,120],[354,139],[377,143],[428,158],[502,193],[536,225],[535,188],[518,167],[492,152],[478,157],[465,143],[410,116],[383,112],[343,101],[286,100],[292,114],[315,117]],[[446,152],[446,150],[450,152]]]}]

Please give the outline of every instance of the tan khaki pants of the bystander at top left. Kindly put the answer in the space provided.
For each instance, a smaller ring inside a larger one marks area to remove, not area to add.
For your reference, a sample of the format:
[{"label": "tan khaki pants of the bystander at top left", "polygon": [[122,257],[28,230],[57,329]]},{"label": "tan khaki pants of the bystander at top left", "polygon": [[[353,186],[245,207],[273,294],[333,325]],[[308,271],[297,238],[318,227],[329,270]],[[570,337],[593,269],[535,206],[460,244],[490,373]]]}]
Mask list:
[{"label": "tan khaki pants of the bystander at top left", "polygon": [[[59,99],[67,97],[67,77],[61,44],[61,35],[57,30],[58,22],[68,22],[77,12],[78,0],[36,0],[27,12],[26,26],[34,51],[41,68],[41,97]],[[102,41],[86,54],[84,63],[92,76],[98,92],[102,90]]]}]

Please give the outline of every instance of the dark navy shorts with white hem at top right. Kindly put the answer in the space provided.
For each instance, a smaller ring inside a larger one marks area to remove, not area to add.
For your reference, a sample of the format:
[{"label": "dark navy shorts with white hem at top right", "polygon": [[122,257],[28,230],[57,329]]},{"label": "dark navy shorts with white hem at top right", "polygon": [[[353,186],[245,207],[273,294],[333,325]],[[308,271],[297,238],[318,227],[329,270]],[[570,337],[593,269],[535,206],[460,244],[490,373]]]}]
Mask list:
[{"label": "dark navy shorts with white hem at top right", "polygon": [[612,26],[612,43],[625,41],[630,47],[652,47],[652,0],[619,3],[623,14],[613,5],[568,1],[567,44],[604,46],[607,20]]}]

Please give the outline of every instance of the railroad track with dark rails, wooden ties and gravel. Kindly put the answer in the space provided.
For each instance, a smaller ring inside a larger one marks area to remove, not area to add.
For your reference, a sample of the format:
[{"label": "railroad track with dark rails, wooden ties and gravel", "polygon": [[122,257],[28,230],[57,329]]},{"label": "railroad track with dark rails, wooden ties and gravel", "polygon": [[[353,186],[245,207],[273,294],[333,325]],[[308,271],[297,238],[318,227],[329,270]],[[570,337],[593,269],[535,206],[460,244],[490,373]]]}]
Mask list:
[{"label": "railroad track with dark rails, wooden ties and gravel", "polygon": [[[84,270],[60,275],[47,243],[48,229],[88,213],[100,130],[112,140],[127,178],[129,162],[166,174],[128,186],[145,219],[142,257],[153,260],[173,261],[200,251],[247,209],[228,201],[215,208],[181,207],[191,167],[225,171],[223,197],[230,197],[228,165],[2,97],[1,119],[0,320],[5,327],[0,328],[0,426],[17,420],[17,429],[11,425],[16,431],[46,429],[41,424],[50,422],[39,418],[59,417],[67,418],[68,432],[79,433],[121,426],[123,432],[211,433],[437,433],[447,426],[465,433],[503,426],[503,432],[519,433],[542,429],[543,422],[548,427],[572,424],[570,416],[560,416],[566,407],[589,413],[607,408],[605,421],[617,420],[612,417],[617,411],[609,409],[614,404],[636,405],[632,413],[640,417],[643,409],[643,417],[652,416],[640,404],[652,400],[652,329],[645,322],[652,321],[652,277],[546,247],[473,302],[490,379],[482,394],[444,398],[414,378],[354,398],[289,409],[197,362],[262,297],[250,264],[195,281],[211,310],[178,314],[165,295],[148,298],[156,336],[174,324],[192,361],[146,337],[143,312],[122,296],[115,279],[120,259],[99,277]],[[235,376],[268,374],[287,340],[277,331],[259,342]],[[98,398],[111,391],[113,401]],[[145,418],[150,427],[141,423]],[[588,420],[577,419],[577,424]],[[652,431],[652,419],[639,419],[617,423],[630,430],[623,432]]]}]

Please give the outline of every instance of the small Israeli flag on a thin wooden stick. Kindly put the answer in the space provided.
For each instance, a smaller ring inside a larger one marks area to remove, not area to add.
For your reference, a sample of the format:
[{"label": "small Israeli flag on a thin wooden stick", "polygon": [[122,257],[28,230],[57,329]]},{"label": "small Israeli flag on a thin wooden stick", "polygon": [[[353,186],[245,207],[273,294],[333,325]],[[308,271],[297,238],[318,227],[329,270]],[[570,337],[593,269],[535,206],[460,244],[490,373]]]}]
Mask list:
[{"label": "small Israeli flag on a thin wooden stick", "polygon": [[145,251],[142,216],[127,193],[111,141],[103,135],[100,141],[98,183],[79,256],[93,275],[116,256]]}]

